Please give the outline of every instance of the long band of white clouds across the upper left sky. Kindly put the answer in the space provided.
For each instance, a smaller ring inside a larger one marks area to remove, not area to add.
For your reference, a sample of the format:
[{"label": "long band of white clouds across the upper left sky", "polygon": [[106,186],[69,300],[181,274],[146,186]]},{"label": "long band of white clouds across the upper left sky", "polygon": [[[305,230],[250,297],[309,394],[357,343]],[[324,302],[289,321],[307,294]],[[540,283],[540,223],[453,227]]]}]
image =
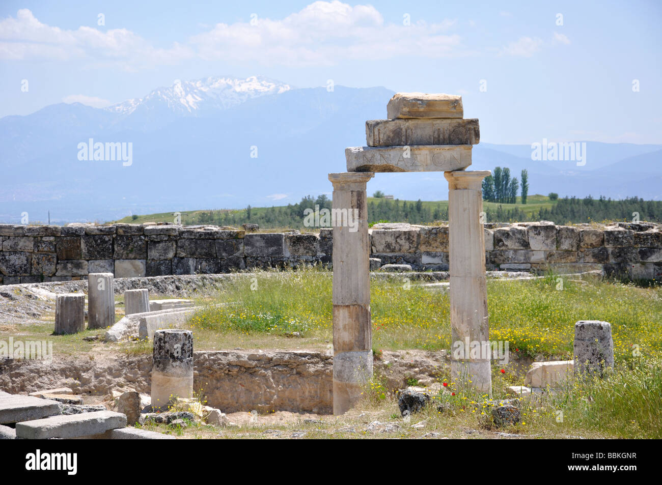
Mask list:
[{"label": "long band of white clouds across the upper left sky", "polygon": [[205,32],[162,49],[126,28],[63,30],[21,9],[15,18],[0,19],[0,59],[122,62],[125,69],[134,70],[191,58],[287,66],[329,66],[343,60],[399,56],[443,58],[461,54],[459,35],[448,33],[455,23],[385,23],[372,5],[315,1],[283,19],[207,26]]}]

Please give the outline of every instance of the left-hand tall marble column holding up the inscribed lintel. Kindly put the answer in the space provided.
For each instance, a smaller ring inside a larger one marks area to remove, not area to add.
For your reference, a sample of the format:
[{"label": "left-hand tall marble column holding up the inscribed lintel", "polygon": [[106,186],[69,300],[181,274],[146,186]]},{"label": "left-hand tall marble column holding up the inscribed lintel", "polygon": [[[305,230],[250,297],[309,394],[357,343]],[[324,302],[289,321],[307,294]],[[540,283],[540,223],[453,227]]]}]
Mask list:
[{"label": "left-hand tall marble column holding up the inscribed lintel", "polygon": [[373,375],[370,246],[365,184],[372,172],[330,173],[333,183],[333,409],[344,414]]}]

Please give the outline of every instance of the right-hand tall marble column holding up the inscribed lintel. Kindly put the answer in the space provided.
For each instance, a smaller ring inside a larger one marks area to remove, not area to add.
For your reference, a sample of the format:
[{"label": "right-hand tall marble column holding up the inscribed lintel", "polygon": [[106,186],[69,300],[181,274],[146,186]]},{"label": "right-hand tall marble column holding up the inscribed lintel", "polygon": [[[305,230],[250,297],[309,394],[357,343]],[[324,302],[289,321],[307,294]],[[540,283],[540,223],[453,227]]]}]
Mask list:
[{"label": "right-hand tall marble column holding up the inscribed lintel", "polygon": [[483,179],[489,171],[444,172],[448,180],[451,377],[492,393],[485,281]]}]

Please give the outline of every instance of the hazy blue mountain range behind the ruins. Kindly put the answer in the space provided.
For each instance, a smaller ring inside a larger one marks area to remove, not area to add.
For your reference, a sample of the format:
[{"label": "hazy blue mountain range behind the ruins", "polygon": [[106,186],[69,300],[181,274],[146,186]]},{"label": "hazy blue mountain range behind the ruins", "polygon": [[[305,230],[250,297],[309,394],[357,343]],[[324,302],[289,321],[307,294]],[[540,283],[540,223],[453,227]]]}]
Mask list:
[{"label": "hazy blue mountain range behind the ruins", "polygon": [[[328,173],[346,170],[344,148],[365,145],[365,120],[385,118],[393,94],[384,87],[328,91],[259,76],[208,77],[103,109],[60,103],[5,116],[0,222],[19,222],[22,212],[46,222],[50,211],[59,224],[328,194]],[[130,144],[131,163],[81,159],[89,143]],[[527,169],[530,194],[662,197],[662,145],[586,142],[583,166],[534,161],[531,154],[528,145],[481,143],[471,169],[509,167],[518,178]],[[369,182],[369,193],[376,190],[408,200],[448,198],[443,173],[378,173]]]}]

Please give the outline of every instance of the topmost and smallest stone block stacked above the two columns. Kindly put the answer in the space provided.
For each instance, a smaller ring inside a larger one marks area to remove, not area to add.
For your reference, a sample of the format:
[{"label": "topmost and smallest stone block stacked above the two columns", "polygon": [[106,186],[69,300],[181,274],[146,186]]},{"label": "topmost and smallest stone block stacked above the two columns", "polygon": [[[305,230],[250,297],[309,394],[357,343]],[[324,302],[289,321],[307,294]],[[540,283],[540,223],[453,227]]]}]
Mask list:
[{"label": "topmost and smallest stone block stacked above the two columns", "polygon": [[397,93],[386,107],[389,120],[396,118],[462,118],[462,97],[425,93]]}]

